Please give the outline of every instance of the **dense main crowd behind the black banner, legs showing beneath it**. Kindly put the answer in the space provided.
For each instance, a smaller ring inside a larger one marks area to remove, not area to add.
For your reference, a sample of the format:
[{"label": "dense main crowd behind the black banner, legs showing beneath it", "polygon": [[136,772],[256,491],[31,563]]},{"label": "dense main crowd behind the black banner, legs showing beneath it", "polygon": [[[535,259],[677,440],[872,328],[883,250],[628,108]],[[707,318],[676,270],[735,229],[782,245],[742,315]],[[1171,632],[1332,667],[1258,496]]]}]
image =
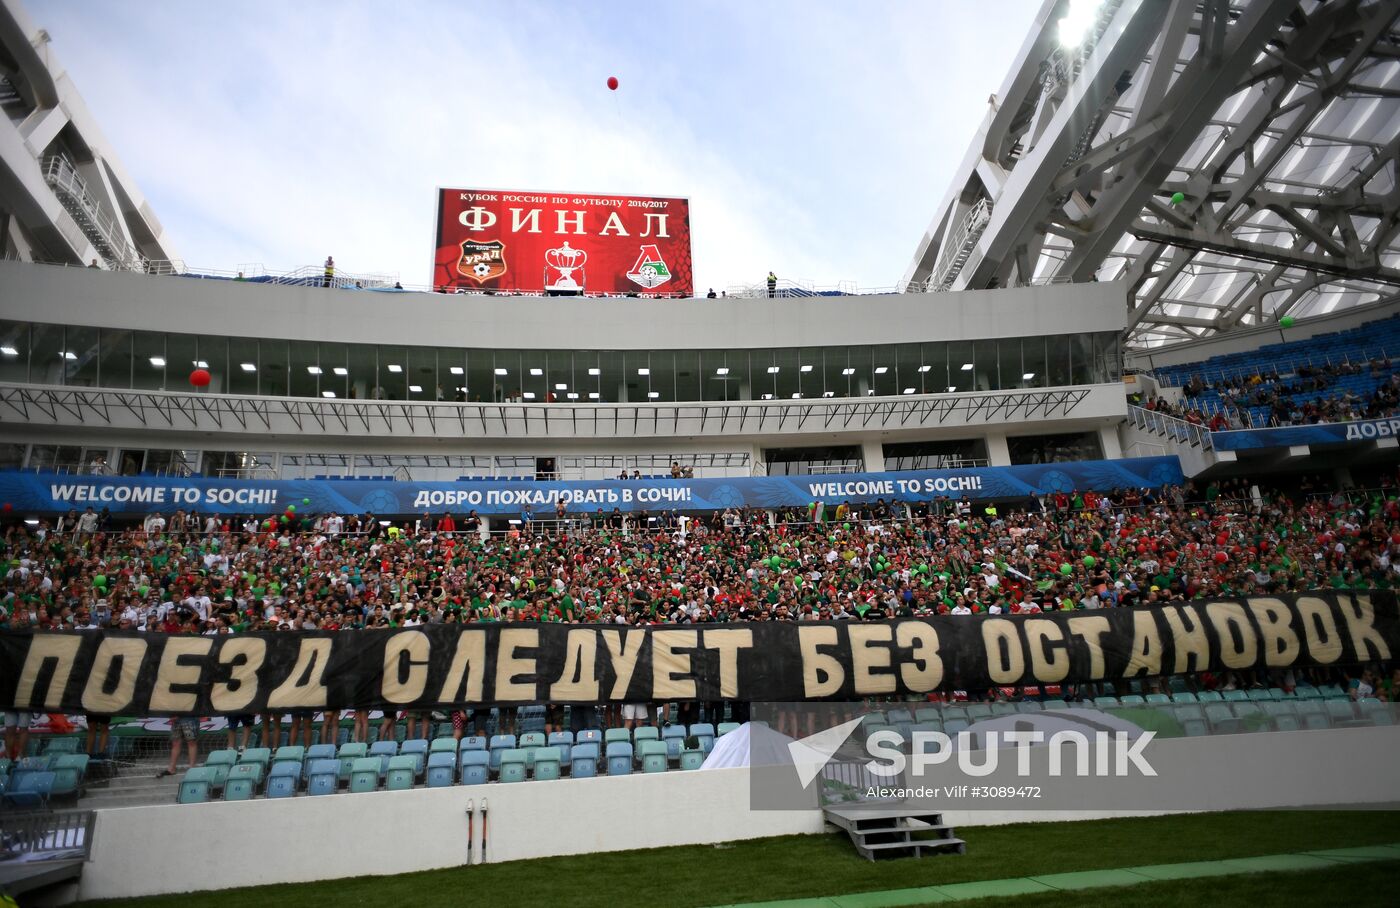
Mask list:
[{"label": "dense main crowd behind the black banner, legs showing beneath it", "polygon": [[[1305,478],[1289,497],[1239,478],[1009,504],[598,511],[524,515],[508,534],[484,533],[475,512],[406,522],[294,515],[270,527],[179,512],[123,529],[90,508],[4,527],[0,628],[217,635],[483,621],[882,621],[1393,589],[1400,495],[1392,488],[1329,497],[1309,494],[1320,487]],[[1400,695],[1400,673],[1352,680],[1354,695]],[[357,736],[368,716],[356,712]],[[406,718],[424,730],[430,721]],[[234,719],[246,743],[253,718]],[[322,736],[333,736],[335,719],[328,714]],[[452,719],[462,733],[465,714]],[[647,721],[644,707],[623,719]],[[293,740],[309,743],[311,721],[293,715]],[[197,732],[181,722],[168,771]],[[231,726],[231,746],[234,735]]]}]

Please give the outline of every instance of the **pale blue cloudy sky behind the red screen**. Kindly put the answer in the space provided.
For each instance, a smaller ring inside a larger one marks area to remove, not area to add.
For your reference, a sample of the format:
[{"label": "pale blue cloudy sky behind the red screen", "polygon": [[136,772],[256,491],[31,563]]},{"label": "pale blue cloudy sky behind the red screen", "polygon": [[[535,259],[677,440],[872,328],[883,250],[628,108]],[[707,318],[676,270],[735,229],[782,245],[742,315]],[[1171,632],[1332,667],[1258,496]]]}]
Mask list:
[{"label": "pale blue cloudy sky behind the red screen", "polygon": [[435,186],[577,189],[689,196],[701,290],[896,283],[1039,6],[28,0],[190,266],[423,284]]}]

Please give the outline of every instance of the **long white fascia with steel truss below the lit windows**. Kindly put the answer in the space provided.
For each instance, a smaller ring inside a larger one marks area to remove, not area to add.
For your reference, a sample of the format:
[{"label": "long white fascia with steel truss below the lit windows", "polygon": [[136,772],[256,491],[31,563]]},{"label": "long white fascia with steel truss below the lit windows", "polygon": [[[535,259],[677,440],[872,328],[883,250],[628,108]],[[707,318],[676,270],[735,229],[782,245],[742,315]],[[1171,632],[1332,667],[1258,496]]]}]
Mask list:
[{"label": "long white fascia with steel truss below the lit windows", "polygon": [[[1089,402],[1089,403],[1086,403]],[[414,438],[757,437],[1120,420],[1121,386],[713,403],[413,403],[0,383],[0,423],[69,428]]]}]

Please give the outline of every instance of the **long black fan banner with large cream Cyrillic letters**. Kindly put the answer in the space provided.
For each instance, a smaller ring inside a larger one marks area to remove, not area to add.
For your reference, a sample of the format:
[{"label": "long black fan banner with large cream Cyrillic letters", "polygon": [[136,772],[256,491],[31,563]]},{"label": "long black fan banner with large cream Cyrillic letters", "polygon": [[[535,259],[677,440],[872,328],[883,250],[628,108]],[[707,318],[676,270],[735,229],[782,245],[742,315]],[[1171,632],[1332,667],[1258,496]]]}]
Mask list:
[{"label": "long black fan banner with large cream Cyrillic letters", "polygon": [[1392,590],[1030,616],[627,627],[433,624],[179,637],[0,632],[0,704],[238,715],[472,705],[804,701],[1387,662]]}]

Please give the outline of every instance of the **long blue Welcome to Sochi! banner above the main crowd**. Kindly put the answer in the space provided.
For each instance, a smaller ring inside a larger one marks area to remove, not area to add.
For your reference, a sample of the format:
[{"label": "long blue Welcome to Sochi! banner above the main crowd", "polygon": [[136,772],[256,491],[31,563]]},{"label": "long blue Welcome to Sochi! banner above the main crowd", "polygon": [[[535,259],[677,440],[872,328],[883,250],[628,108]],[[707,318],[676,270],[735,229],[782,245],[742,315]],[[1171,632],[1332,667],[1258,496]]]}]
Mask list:
[{"label": "long blue Welcome to Sochi! banner above the main crowd", "polygon": [[137,476],[0,473],[0,502],[20,513],[87,506],[113,513],[281,513],[288,505],[309,513],[553,513],[560,499],[571,513],[620,511],[722,511],[792,508],[813,501],[837,505],[931,498],[1025,498],[1053,491],[1179,484],[1175,456],[1081,460],[966,470],[841,473],[833,476],[743,476],[697,480],[458,481],[225,480]]}]

